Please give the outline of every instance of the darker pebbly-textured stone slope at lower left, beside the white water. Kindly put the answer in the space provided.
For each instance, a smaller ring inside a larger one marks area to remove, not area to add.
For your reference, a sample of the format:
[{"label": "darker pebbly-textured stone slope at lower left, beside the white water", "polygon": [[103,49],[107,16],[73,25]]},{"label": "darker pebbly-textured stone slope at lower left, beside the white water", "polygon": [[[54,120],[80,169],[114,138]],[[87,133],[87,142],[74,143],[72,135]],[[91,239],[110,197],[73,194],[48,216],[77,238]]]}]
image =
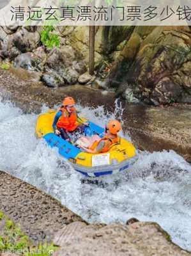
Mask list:
[{"label": "darker pebbly-textured stone slope at lower left, beside the white water", "polygon": [[[0,171],[0,177],[6,191],[10,191],[10,187],[14,187],[16,188],[15,193],[17,193],[17,198],[11,193],[6,193],[3,204],[1,204],[1,211],[6,211],[11,220],[20,223],[22,232],[29,236],[34,245],[36,242],[38,244],[45,243],[45,241],[50,243],[57,230],[65,227],[66,224],[80,222],[83,225],[82,218],[39,189],[12,177],[8,173]],[[10,184],[6,184],[8,179]],[[31,194],[31,191],[33,191],[33,194]],[[0,187],[0,195],[2,193],[3,188]],[[25,202],[27,204],[23,207]],[[49,210],[47,211],[49,214],[43,214],[47,205],[49,205]],[[3,223],[0,221],[0,227],[2,225]]]}]

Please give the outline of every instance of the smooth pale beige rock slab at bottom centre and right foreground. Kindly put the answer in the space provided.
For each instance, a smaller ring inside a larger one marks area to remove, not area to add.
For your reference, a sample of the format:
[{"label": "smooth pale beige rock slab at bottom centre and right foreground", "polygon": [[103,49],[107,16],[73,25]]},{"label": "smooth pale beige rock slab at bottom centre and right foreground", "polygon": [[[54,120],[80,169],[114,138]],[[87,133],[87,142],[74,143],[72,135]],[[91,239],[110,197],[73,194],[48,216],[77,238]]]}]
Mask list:
[{"label": "smooth pale beige rock slab at bottom centre and right foreground", "polygon": [[[71,225],[71,224],[70,224]],[[90,226],[90,227],[89,227]],[[68,227],[69,228],[69,227]],[[70,233],[69,233],[70,236]],[[127,255],[189,255],[174,246],[166,237],[168,234],[157,223],[137,222],[132,225],[88,225],[70,236],[53,256],[127,256]],[[154,238],[154,239],[153,239]]]}]

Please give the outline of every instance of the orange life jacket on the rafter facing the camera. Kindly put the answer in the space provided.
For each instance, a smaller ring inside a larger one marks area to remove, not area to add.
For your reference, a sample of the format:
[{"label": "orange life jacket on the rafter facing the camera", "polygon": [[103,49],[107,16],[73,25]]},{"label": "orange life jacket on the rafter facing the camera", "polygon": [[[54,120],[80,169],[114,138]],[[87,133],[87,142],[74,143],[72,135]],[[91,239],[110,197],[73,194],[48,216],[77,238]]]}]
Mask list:
[{"label": "orange life jacket on the rafter facing the camera", "polygon": [[68,132],[74,131],[79,123],[77,122],[77,113],[76,111],[72,111],[72,113],[68,113],[66,108],[60,108],[60,111],[62,111],[62,115],[57,121],[57,128],[63,128]]}]

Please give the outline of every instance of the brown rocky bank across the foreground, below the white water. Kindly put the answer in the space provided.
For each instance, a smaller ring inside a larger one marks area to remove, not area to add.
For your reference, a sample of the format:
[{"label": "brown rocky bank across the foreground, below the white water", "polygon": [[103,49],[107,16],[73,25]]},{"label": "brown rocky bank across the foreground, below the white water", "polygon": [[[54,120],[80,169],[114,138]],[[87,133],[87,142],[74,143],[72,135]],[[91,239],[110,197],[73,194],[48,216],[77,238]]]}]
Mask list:
[{"label": "brown rocky bank across the foreground, below the white water", "polygon": [[173,244],[157,223],[132,219],[126,225],[90,225],[26,182],[4,172],[0,180],[0,210],[19,223],[34,243],[60,246],[54,256],[190,255]]}]

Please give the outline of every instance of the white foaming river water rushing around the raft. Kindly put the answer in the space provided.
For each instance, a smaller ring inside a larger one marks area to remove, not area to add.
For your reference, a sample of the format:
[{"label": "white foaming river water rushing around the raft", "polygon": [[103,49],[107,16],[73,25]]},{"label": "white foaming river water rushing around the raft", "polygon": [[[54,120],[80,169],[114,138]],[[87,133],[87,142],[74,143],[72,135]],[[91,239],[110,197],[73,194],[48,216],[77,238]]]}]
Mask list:
[{"label": "white foaming river water rushing around the raft", "polygon": [[[103,114],[102,107],[79,109],[100,125],[122,111],[120,106],[112,115]],[[174,243],[191,250],[191,166],[181,156],[139,152],[128,175],[82,183],[80,173],[55,148],[35,138],[35,121],[36,115],[23,115],[0,100],[0,170],[43,189],[91,223],[125,223],[132,217],[156,221]]]}]

